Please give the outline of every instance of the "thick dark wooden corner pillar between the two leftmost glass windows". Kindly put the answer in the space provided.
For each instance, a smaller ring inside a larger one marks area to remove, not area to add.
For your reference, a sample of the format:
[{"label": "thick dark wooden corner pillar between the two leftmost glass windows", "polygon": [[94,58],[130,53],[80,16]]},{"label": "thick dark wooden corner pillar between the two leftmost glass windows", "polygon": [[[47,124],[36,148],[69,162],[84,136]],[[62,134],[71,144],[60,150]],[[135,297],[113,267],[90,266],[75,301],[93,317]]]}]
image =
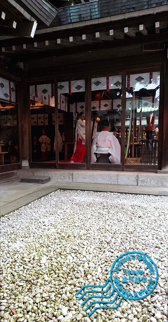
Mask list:
[{"label": "thick dark wooden corner pillar between the two leftmost glass windows", "polygon": [[26,81],[20,81],[17,87],[19,111],[19,137],[21,152],[21,167],[29,168],[31,162],[31,132],[30,132],[30,94]]}]

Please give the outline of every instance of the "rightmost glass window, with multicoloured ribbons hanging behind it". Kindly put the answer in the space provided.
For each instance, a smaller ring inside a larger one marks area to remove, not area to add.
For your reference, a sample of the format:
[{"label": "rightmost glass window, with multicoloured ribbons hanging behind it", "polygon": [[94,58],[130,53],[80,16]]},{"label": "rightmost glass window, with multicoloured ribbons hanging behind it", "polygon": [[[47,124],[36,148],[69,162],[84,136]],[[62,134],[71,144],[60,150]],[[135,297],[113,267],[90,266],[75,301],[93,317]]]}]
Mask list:
[{"label": "rightmost glass window, with multicoloured ribbons hanging behind it", "polygon": [[157,164],[159,72],[127,75],[125,163]]}]

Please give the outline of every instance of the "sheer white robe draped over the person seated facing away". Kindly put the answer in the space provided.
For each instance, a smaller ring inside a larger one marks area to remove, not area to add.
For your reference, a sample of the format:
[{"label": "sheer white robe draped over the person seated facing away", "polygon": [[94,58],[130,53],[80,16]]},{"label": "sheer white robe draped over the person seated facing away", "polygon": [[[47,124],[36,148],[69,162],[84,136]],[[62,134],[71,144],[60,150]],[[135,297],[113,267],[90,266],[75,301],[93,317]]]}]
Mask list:
[{"label": "sheer white robe draped over the person seated facing away", "polygon": [[109,157],[109,160],[111,163],[121,164],[120,143],[112,132],[97,132],[91,147],[91,163],[95,163],[97,160],[95,152],[97,153],[97,157],[100,156],[98,152],[110,153],[111,156]]}]

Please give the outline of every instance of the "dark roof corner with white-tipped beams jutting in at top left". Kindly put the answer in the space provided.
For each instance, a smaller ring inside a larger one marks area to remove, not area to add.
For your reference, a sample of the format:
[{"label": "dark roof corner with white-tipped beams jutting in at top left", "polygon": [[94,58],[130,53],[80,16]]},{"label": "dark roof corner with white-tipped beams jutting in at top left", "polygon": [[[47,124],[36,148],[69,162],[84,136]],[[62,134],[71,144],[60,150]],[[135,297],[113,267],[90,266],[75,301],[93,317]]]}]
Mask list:
[{"label": "dark roof corner with white-tipped beams jutting in at top left", "polygon": [[40,28],[49,26],[57,13],[58,9],[47,0],[3,0],[0,35],[33,38],[37,25]]}]

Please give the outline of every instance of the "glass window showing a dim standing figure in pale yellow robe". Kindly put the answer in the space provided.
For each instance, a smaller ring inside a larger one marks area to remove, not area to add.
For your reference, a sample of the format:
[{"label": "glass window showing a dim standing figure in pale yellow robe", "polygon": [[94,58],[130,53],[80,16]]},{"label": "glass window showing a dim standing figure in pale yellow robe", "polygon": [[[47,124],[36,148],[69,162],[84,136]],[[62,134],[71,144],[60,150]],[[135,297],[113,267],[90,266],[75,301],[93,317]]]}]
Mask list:
[{"label": "glass window showing a dim standing figure in pale yellow robe", "polygon": [[30,86],[31,160],[55,162],[54,84]]}]

